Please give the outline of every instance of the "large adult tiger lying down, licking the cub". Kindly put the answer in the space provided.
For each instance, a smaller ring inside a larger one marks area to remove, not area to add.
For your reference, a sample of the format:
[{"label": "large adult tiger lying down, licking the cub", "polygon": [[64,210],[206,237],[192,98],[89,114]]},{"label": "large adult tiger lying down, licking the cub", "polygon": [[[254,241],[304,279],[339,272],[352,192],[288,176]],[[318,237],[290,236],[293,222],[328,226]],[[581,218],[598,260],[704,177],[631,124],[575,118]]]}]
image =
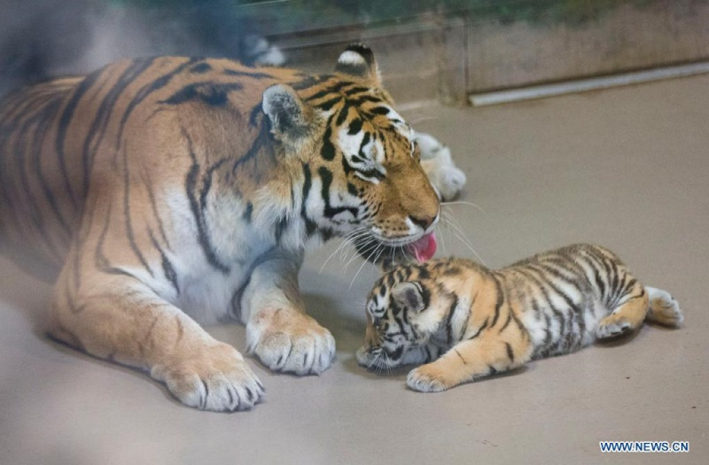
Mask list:
[{"label": "large adult tiger lying down, licking the cub", "polygon": [[[439,201],[364,45],[333,74],[157,57],[31,86],[0,107],[0,237],[59,272],[49,333],[138,366],[186,405],[263,387],[197,322],[236,318],[276,371],[319,374],[308,241],[355,229],[428,256]],[[413,244],[413,246],[412,246]]]}]

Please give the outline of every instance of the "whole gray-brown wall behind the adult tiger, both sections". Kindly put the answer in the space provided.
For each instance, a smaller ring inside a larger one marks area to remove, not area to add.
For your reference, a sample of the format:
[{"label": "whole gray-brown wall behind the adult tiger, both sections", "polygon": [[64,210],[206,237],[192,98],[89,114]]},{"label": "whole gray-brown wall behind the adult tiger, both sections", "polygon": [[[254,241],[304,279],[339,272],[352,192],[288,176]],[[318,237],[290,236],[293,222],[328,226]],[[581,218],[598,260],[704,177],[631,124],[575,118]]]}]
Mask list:
[{"label": "whole gray-brown wall behind the adult tiger, both sections", "polygon": [[709,2],[618,6],[582,23],[430,15],[273,36],[289,64],[329,71],[353,40],[374,49],[399,103],[596,77],[709,59]]}]

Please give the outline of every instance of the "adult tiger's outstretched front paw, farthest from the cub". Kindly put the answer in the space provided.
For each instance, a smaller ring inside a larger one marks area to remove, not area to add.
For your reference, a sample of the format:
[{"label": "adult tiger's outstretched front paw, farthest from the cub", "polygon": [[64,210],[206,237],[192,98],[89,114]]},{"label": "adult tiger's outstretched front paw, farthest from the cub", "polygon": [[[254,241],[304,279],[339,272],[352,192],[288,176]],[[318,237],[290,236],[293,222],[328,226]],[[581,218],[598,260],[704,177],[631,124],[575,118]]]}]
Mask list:
[{"label": "adult tiger's outstretched front paw, farthest from the cub", "polygon": [[248,410],[264,397],[264,387],[241,354],[218,342],[196,349],[184,358],[157,364],[150,376],[164,381],[182,403],[200,410]]}]

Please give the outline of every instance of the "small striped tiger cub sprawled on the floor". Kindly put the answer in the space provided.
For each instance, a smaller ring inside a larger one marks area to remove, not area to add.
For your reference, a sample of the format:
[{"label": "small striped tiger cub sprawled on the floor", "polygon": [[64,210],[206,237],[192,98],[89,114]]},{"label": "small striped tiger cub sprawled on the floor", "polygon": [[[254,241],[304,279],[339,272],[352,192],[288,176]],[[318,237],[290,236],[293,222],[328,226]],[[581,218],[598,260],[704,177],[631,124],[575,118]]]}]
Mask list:
[{"label": "small striped tiger cub sprawled on the floor", "polygon": [[375,370],[430,362],[409,372],[406,385],[445,391],[637,330],[644,320],[677,327],[683,315],[669,293],[643,286],[598,245],[570,245],[498,270],[438,259],[377,281],[357,361]]}]

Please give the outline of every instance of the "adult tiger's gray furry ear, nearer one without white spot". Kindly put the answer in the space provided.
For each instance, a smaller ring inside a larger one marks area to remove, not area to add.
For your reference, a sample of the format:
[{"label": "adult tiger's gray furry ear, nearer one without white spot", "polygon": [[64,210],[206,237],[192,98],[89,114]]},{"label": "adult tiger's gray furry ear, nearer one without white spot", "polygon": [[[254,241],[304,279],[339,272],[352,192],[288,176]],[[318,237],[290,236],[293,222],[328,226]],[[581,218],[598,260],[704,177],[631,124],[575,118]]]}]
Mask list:
[{"label": "adult tiger's gray furry ear, nearer one without white spot", "polygon": [[264,90],[261,106],[271,122],[271,132],[281,142],[301,142],[310,133],[315,112],[293,88],[284,84],[270,86]]}]

